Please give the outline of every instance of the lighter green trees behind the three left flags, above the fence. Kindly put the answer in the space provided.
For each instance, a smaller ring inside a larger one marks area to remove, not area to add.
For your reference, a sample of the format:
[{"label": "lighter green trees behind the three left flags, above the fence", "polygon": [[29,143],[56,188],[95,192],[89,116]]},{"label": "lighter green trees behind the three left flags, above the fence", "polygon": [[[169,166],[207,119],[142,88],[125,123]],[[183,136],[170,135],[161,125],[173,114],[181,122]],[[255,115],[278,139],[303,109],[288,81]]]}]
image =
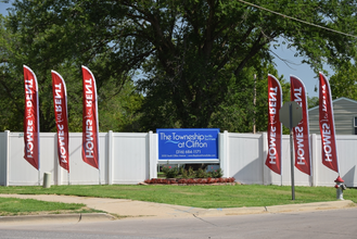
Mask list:
[{"label": "lighter green trees behind the three left flags, above the fence", "polygon": [[[68,100],[69,131],[81,131],[82,121],[82,81],[80,65],[74,59],[56,59],[50,67],[38,59],[31,59],[24,49],[28,46],[22,42],[20,35],[10,32],[8,18],[0,15],[0,130],[23,131],[25,109],[23,64],[30,66],[39,81],[40,130],[55,131],[55,120],[52,98],[51,70],[61,74],[66,83]],[[55,52],[53,52],[55,54]],[[99,60],[98,60],[99,61]],[[105,62],[101,62],[102,64]],[[101,67],[101,64],[97,64]],[[48,67],[48,68],[47,68]],[[138,131],[136,123],[140,114],[142,96],[135,91],[131,79],[118,85],[116,79],[101,81],[101,74],[93,73],[99,83],[99,120],[100,130]],[[123,90],[120,90],[123,89]]]}]

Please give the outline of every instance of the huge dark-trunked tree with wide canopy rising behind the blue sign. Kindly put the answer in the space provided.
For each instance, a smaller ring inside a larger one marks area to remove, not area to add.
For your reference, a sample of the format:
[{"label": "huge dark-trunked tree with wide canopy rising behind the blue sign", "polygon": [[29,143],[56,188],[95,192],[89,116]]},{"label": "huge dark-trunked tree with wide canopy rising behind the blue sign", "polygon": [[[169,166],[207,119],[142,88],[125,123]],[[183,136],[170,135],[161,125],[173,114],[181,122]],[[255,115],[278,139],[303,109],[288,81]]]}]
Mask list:
[{"label": "huge dark-trunked tree with wide canopy rising behind the blue sign", "polygon": [[[94,72],[99,88],[115,80],[116,89],[139,72],[140,130],[248,131],[253,118],[266,112],[266,102],[253,104],[253,88],[263,90],[267,73],[275,71],[270,46],[278,38],[316,72],[323,63],[339,67],[355,56],[355,38],[291,17],[348,34],[357,29],[357,3],[350,0],[250,3],[255,5],[240,0],[15,0],[7,25],[16,36],[11,47],[16,61],[10,65],[20,74],[26,60],[35,72],[49,75],[51,68],[77,71],[84,64]],[[255,84],[254,74],[259,76]],[[48,83],[40,84],[46,88]],[[266,121],[259,124],[265,130]]]}]

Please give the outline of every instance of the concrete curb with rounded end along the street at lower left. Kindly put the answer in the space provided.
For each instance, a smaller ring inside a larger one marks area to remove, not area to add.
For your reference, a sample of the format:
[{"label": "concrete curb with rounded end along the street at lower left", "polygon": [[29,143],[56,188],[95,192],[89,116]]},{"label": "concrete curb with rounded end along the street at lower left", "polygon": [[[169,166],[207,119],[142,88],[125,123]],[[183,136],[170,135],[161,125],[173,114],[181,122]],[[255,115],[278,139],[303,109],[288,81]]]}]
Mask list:
[{"label": "concrete curb with rounded end along the street at lower left", "polygon": [[114,221],[114,216],[106,213],[74,213],[74,214],[46,214],[24,216],[0,216],[0,223],[79,223]]}]

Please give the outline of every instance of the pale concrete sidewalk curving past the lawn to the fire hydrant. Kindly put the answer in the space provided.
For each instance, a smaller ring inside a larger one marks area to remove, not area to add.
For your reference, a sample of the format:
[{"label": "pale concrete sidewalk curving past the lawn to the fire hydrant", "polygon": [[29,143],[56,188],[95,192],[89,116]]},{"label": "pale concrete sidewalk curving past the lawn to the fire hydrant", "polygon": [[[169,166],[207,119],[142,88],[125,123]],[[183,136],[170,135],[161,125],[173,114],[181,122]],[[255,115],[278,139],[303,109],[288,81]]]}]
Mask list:
[{"label": "pale concrete sidewalk curving past the lawn to the fire hydrant", "polygon": [[[86,198],[55,194],[0,194],[2,198],[36,199],[41,201],[84,203],[90,209],[101,210],[109,214],[125,216],[126,218],[177,218],[177,217],[208,217],[259,213],[307,212],[315,210],[335,210],[356,206],[350,200],[315,202],[306,204],[289,204],[275,206],[254,206],[235,209],[200,209],[163,203],[142,202],[125,199]],[[90,219],[92,214],[76,215],[77,221]],[[53,217],[53,215],[51,215]],[[114,219],[107,214],[93,214],[93,219]],[[13,218],[14,216],[12,216]],[[26,217],[26,216],[25,216]],[[28,216],[27,216],[28,217]],[[34,216],[36,217],[36,216]],[[50,217],[50,215],[48,215]],[[64,217],[64,216],[63,216]],[[1,222],[0,217],[0,222]]]}]

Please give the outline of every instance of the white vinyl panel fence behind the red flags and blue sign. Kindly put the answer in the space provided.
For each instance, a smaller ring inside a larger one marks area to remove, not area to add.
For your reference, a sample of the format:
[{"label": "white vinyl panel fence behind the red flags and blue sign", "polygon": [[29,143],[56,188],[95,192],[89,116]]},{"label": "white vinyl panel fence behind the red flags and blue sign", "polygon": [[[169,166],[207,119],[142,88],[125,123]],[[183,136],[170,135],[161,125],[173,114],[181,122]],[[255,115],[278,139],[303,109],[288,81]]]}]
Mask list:
[{"label": "white vinyl panel fence behind the red flags and blue sign", "polygon": [[[313,176],[295,168],[296,186],[333,186],[337,174],[322,165],[321,138],[310,136]],[[157,135],[150,133],[100,133],[99,171],[81,160],[81,134],[69,134],[69,183],[72,185],[138,184],[157,177]],[[282,177],[266,165],[266,134],[219,134],[219,163],[225,177],[243,184],[290,185],[290,138],[283,136]],[[0,133],[0,185],[67,185],[67,172],[59,166],[56,135],[40,133],[40,172],[24,160],[23,133]],[[337,136],[340,174],[347,187],[357,187],[357,136]],[[40,178],[39,178],[40,176]]]}]

